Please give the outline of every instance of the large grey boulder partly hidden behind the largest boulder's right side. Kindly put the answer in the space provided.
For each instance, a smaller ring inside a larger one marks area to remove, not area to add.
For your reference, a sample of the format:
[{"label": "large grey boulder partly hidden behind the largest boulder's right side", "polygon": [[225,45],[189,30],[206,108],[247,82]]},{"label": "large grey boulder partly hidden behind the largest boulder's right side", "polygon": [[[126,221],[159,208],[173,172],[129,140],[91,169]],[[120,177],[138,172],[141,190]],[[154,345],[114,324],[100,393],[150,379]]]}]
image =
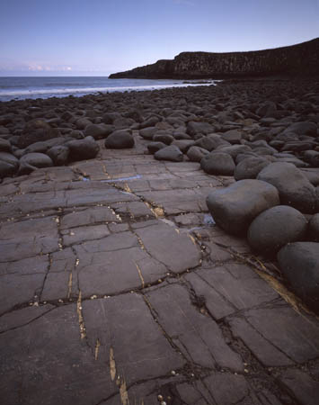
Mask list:
[{"label": "large grey boulder partly hidden behind the largest boulder's right side", "polygon": [[299,211],[312,213],[316,210],[315,187],[296,166],[286,162],[270,163],[257,175],[258,180],[274,185],[283,205],[291,205]]}]

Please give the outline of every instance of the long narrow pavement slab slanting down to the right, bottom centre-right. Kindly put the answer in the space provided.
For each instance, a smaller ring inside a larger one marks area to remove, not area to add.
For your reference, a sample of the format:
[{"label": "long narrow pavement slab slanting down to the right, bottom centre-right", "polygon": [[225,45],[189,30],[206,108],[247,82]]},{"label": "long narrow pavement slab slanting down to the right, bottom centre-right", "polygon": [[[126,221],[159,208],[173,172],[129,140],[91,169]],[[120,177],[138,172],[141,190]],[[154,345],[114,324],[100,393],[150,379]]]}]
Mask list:
[{"label": "long narrow pavement slab slanting down to the right, bottom centre-right", "polygon": [[226,345],[217,323],[196,310],[188,291],[178,284],[146,294],[165,333],[193,364],[243,371],[243,361]]}]

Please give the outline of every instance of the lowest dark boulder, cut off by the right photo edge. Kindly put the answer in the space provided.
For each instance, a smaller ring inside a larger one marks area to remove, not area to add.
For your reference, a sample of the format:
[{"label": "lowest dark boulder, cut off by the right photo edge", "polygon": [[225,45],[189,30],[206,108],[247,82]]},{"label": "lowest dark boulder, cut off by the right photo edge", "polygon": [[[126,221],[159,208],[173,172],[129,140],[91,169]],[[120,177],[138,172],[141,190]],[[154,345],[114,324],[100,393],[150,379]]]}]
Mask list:
[{"label": "lowest dark boulder, cut off by the right photo edge", "polygon": [[319,243],[289,243],[279,250],[280,269],[297,295],[319,312]]}]

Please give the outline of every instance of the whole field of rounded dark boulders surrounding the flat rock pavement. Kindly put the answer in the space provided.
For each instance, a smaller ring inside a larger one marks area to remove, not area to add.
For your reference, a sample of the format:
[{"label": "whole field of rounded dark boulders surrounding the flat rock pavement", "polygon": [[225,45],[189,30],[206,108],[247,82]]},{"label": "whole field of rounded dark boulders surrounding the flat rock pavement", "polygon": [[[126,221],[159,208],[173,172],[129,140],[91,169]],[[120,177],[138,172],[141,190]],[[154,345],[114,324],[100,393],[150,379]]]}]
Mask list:
[{"label": "whole field of rounded dark boulders surrounding the flat rock pavement", "polygon": [[136,136],[157,160],[229,176],[230,185],[207,197],[217,226],[278,257],[290,287],[319,311],[319,81],[229,80],[0,103],[0,179],[97,157],[102,143],[134,148]]}]

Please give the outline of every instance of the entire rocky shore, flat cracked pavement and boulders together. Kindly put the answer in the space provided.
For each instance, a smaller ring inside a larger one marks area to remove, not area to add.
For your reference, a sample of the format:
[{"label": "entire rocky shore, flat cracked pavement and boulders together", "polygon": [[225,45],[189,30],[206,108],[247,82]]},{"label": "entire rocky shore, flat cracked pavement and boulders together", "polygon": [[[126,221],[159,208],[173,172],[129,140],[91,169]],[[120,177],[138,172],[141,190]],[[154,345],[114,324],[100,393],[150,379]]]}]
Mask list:
[{"label": "entire rocky shore, flat cracked pavement and boulders together", "polygon": [[0,103],[0,179],[6,405],[317,404],[317,76]]}]

